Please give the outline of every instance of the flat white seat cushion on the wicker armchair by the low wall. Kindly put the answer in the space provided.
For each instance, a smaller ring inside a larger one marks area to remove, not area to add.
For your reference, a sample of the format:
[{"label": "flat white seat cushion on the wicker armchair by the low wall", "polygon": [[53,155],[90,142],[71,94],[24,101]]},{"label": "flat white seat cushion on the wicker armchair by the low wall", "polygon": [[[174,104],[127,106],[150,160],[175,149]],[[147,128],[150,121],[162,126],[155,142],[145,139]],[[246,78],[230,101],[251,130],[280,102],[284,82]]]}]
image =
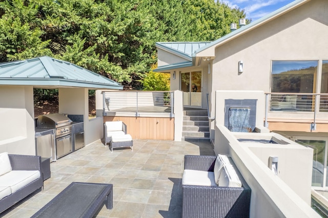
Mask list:
[{"label": "flat white seat cushion on the wicker armchair by the low wall", "polygon": [[214,172],[185,169],[183,171],[182,185],[217,186]]}]

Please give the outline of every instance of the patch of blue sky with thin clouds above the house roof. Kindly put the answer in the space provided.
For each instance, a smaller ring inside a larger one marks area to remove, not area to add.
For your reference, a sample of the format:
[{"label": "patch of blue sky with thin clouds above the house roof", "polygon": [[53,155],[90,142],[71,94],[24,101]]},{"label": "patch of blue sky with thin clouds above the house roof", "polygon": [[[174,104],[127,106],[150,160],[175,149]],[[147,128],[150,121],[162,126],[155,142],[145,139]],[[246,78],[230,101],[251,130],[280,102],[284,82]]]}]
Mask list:
[{"label": "patch of blue sky with thin clouds above the house roof", "polygon": [[255,21],[294,0],[218,0],[228,4],[232,8],[244,10],[247,19]]}]

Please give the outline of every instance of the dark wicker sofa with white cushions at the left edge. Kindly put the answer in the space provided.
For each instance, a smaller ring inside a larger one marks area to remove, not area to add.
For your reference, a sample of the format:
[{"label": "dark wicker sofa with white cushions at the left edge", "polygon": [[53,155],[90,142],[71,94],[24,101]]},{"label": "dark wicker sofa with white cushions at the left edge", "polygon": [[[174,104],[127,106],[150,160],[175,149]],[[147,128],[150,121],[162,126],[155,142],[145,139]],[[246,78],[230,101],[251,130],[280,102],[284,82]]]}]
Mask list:
[{"label": "dark wicker sofa with white cushions at the left edge", "polygon": [[2,155],[0,171],[0,213],[43,187],[40,156]]}]

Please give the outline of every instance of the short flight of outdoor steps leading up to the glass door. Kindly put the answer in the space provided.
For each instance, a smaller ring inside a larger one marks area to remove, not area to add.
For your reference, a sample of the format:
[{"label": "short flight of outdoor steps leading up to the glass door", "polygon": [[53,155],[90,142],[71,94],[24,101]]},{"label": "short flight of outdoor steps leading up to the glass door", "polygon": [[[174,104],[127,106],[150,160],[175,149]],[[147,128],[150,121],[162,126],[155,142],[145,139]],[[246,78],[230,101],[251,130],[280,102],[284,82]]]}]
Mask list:
[{"label": "short flight of outdoor steps leading up to the glass door", "polygon": [[207,110],[184,108],[182,141],[210,141],[210,127]]}]

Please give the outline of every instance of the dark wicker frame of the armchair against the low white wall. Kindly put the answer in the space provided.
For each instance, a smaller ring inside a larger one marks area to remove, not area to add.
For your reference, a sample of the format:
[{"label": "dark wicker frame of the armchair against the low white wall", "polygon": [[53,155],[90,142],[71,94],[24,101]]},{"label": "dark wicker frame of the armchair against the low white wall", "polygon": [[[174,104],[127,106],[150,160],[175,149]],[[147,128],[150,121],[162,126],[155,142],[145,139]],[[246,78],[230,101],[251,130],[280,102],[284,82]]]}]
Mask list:
[{"label": "dark wicker frame of the armchair against the low white wall", "polygon": [[[185,169],[214,170],[216,156],[185,156]],[[229,158],[241,187],[182,184],[182,217],[249,217],[251,189]]]}]

